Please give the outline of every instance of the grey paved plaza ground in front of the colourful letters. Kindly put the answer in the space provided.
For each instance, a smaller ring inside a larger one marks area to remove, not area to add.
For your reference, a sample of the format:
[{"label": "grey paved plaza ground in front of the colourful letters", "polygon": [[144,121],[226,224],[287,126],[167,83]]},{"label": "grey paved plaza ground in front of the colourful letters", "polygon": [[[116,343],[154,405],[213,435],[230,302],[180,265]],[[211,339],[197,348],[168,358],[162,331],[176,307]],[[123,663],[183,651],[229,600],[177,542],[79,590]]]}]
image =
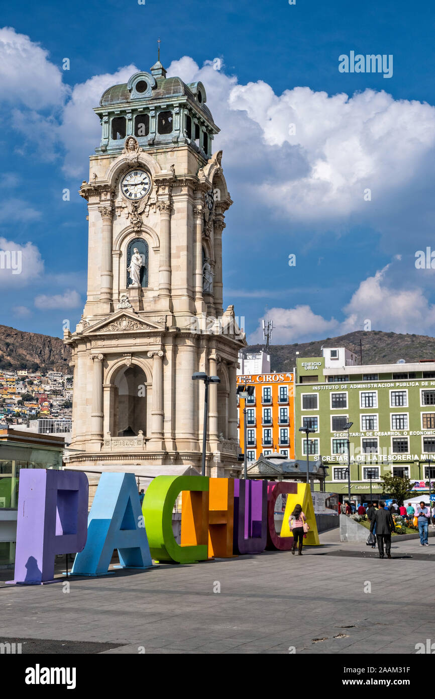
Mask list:
[{"label": "grey paved plaza ground in front of the colourful letters", "polygon": [[69,592],[63,576],[0,582],[0,641],[25,639],[29,652],[35,640],[61,641],[45,644],[57,653],[415,654],[416,643],[435,640],[435,538],[429,547],[398,539],[392,560],[333,530],[302,557],[117,570],[69,578]]}]

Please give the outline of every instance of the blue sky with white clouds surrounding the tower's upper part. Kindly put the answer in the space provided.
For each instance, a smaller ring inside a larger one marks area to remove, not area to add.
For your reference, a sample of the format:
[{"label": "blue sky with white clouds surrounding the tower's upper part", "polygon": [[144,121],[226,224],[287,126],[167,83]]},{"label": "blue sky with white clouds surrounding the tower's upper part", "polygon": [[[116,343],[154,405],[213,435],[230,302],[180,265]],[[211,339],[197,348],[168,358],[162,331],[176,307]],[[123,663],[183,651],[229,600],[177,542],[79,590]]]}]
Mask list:
[{"label": "blue sky with white clouds surrounding the tower's upper part", "polygon": [[[62,336],[66,319],[71,329],[80,320],[78,189],[101,136],[92,108],[149,70],[160,37],[168,76],[202,80],[221,129],[213,150],[234,201],[224,306],[235,305],[249,343],[262,341],[263,318],[272,344],[435,334],[433,3],[0,8],[0,324]],[[365,71],[367,55],[384,57],[381,72]]]}]

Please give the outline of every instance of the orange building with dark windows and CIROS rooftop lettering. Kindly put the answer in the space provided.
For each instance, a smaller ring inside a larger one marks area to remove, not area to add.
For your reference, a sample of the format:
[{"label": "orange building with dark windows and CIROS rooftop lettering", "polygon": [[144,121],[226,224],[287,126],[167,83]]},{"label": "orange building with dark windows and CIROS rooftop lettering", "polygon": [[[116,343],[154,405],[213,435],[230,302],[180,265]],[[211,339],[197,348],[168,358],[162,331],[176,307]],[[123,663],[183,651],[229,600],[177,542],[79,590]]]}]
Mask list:
[{"label": "orange building with dark windows and CIROS rooftop lettering", "polygon": [[[280,452],[295,458],[295,421],[293,373],[237,376],[237,386],[253,386],[253,396],[237,394],[237,432],[244,452],[244,414],[246,407],[246,458],[256,461],[260,454]],[[246,405],[245,405],[246,403]]]}]

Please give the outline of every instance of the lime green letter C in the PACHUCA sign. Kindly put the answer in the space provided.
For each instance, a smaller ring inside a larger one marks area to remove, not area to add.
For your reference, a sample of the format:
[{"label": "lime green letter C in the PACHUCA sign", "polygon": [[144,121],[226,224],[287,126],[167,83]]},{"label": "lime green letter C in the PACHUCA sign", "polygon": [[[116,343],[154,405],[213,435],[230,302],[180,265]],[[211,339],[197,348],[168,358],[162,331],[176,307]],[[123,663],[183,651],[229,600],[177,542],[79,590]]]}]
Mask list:
[{"label": "lime green letter C in the PACHUCA sign", "polygon": [[[186,491],[193,492],[186,495]],[[207,560],[208,491],[205,476],[157,476],[149,484],[142,512],[153,559],[176,563]],[[179,546],[172,532],[172,510],[181,492],[183,545]]]}]

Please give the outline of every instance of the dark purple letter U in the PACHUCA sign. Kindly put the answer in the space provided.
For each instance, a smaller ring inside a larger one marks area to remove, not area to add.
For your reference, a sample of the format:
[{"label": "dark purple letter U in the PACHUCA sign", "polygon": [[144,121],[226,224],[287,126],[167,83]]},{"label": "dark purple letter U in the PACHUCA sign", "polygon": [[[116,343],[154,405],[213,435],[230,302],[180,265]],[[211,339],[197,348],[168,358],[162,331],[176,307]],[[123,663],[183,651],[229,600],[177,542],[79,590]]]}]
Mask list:
[{"label": "dark purple letter U in the PACHUCA sign", "polygon": [[267,543],[267,481],[234,481],[234,553],[260,554]]}]

